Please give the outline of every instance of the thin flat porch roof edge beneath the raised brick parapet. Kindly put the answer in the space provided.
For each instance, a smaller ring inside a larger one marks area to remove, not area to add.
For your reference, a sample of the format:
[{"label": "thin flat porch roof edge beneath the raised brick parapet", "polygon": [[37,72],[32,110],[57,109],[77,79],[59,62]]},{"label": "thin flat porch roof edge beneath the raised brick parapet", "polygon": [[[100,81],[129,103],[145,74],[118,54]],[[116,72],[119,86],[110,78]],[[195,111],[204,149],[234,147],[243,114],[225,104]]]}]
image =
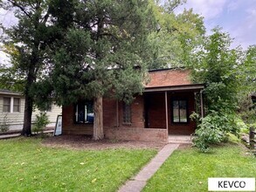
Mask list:
[{"label": "thin flat porch roof edge beneath the raised brick parapet", "polygon": [[146,87],[144,93],[150,92],[170,92],[170,91],[200,91],[204,89],[204,84],[182,85],[182,86],[157,86]]}]

